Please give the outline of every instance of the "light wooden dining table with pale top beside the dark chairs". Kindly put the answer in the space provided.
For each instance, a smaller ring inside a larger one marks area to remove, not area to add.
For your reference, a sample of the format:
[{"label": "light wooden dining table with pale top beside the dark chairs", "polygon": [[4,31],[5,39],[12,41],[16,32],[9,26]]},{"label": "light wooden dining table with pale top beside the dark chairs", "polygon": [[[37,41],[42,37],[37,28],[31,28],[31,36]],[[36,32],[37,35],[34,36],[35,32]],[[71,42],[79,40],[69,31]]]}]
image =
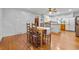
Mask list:
[{"label": "light wooden dining table with pale top beside the dark chairs", "polygon": [[41,41],[41,47],[46,44],[47,38],[46,36],[50,34],[50,28],[49,27],[37,27],[38,32],[40,33],[40,41]]}]

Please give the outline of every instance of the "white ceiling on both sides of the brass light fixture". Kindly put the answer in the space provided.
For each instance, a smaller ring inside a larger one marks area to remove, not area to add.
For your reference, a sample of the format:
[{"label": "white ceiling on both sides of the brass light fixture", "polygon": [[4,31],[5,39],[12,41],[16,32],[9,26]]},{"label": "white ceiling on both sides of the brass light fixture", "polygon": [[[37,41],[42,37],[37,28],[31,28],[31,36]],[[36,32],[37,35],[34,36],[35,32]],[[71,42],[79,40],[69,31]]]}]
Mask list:
[{"label": "white ceiling on both sides of the brass light fixture", "polygon": [[[79,8],[56,8],[56,9],[57,9],[56,14],[79,11]],[[27,10],[29,12],[39,14],[39,15],[48,14],[48,8],[24,8],[24,10]]]}]

